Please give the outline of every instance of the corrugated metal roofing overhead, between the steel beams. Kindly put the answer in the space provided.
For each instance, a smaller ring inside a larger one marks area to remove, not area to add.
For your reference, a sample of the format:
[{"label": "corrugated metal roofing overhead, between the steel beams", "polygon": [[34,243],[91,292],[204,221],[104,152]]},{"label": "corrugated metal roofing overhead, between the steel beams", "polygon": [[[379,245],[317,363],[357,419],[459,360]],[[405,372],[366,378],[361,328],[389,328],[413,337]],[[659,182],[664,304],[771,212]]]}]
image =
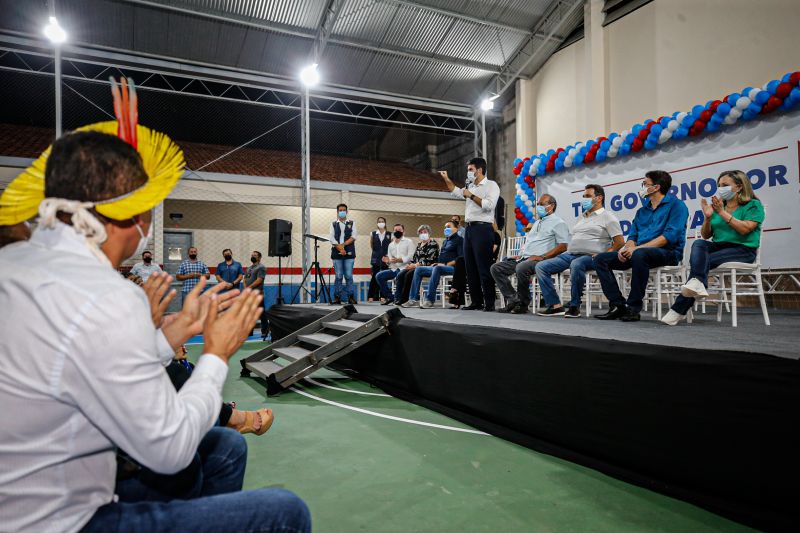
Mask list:
[{"label": "corrugated metal roofing overhead, between the steel beams", "polygon": [[[332,84],[472,104],[554,0],[345,0],[320,71]],[[156,5],[158,4],[158,5]],[[59,0],[72,42],[294,78],[326,0]],[[44,0],[0,0],[0,28],[38,35]],[[582,10],[564,26],[569,33]],[[226,20],[227,19],[227,20]],[[485,22],[484,22],[485,21]],[[554,43],[557,45],[557,43]],[[549,57],[547,49],[526,69]]]}]

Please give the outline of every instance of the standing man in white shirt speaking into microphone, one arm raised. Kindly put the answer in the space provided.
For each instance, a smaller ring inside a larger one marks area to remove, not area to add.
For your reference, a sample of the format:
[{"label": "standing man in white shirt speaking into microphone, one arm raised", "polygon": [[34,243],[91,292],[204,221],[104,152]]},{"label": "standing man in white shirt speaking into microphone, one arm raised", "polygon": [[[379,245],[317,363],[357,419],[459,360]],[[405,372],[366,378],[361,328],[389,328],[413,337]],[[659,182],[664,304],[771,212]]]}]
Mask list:
[{"label": "standing man in white shirt speaking into microphone, one arm raised", "polygon": [[494,311],[494,279],[489,267],[492,266],[494,243],[494,208],[500,197],[500,187],[486,177],[486,160],[482,157],[475,157],[467,164],[467,179],[463,188],[456,187],[447,176],[447,171],[440,171],[439,174],[450,189],[450,194],[464,198],[467,203],[464,211],[467,227],[464,235],[464,265],[472,302],[462,309]]}]

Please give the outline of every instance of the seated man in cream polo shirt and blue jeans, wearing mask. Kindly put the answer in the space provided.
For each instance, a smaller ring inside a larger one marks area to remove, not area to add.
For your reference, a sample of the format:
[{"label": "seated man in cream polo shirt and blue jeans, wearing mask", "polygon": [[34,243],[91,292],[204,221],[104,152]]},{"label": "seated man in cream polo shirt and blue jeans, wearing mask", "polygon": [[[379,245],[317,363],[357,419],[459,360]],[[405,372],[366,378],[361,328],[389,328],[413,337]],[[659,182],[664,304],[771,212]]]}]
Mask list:
[{"label": "seated man in cream polo shirt and blue jeans, wearing mask", "polygon": [[[592,258],[599,253],[616,252],[622,248],[625,239],[622,237],[619,220],[603,207],[604,202],[603,187],[587,185],[581,200],[583,214],[572,228],[567,251],[536,265],[536,278],[547,306],[547,309],[537,312],[537,315],[580,317],[586,272],[592,269]],[[567,269],[572,288],[569,308],[565,311],[553,285],[552,276]]]}]

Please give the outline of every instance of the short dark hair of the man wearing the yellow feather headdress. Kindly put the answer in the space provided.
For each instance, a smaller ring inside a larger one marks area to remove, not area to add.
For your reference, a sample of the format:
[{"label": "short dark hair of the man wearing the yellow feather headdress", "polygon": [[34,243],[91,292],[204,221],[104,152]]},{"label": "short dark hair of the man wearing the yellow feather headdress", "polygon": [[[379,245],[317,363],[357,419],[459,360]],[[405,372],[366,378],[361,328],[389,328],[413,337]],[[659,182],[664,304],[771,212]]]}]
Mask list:
[{"label": "short dark hair of the man wearing the yellow feather headdress", "polygon": [[139,153],[119,137],[97,131],[56,140],[44,174],[46,197],[81,202],[116,198],[147,182]]}]

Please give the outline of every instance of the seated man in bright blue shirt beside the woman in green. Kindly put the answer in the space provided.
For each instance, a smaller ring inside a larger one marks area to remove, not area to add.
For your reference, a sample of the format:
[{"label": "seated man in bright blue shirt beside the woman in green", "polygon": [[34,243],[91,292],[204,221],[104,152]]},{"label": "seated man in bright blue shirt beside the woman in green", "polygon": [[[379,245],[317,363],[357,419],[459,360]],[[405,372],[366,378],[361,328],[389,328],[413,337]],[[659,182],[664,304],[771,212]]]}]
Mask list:
[{"label": "seated man in bright blue shirt beside the woman in green", "polygon": [[[594,269],[610,303],[608,312],[595,318],[639,320],[650,269],[677,265],[683,258],[689,210],[679,198],[667,194],[671,186],[672,176],[663,170],[645,174],[639,196],[647,202],[636,212],[625,246],[618,252],[594,257]],[[631,269],[631,290],[626,301],[613,271],[628,269]]]}]

